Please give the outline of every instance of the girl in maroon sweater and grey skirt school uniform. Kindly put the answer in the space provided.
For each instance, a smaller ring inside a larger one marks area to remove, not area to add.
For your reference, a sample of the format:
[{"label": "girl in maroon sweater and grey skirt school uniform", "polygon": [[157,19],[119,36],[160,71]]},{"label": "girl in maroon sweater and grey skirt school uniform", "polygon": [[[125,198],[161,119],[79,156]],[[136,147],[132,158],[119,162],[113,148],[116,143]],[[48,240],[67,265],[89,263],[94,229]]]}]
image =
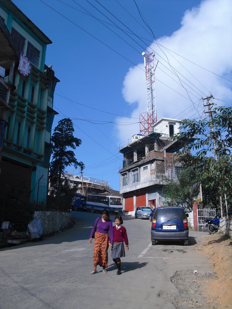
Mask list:
[{"label": "girl in maroon sweater and grey skirt school uniform", "polygon": [[[125,256],[125,249],[124,249],[124,241],[126,244],[126,250],[129,250],[128,238],[127,238],[127,230],[124,226],[122,226],[122,217],[116,216],[115,217],[115,224],[116,226],[113,227],[114,231],[114,243],[113,249],[111,251],[111,257],[113,258],[114,263],[116,264],[118,271],[117,275],[121,275],[121,259],[120,257]],[[111,238],[109,238],[109,242]]]}]

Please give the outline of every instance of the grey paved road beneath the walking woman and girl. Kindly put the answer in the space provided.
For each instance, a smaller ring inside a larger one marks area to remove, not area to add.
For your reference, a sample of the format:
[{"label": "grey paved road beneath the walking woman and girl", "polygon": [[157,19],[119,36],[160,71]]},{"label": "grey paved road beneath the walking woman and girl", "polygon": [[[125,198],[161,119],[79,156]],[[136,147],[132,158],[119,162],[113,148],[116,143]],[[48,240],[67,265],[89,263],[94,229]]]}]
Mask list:
[{"label": "grey paved road beneath the walking woman and girl", "polygon": [[70,230],[38,243],[0,250],[1,309],[173,309],[173,304],[157,295],[160,290],[178,293],[170,282],[175,271],[210,270],[208,260],[191,250],[205,233],[190,232],[187,247],[178,243],[152,246],[151,222],[124,217],[129,251],[122,258],[122,275],[116,275],[110,257],[107,273],[91,275],[89,235],[100,215],[72,212],[72,216],[76,224]]}]

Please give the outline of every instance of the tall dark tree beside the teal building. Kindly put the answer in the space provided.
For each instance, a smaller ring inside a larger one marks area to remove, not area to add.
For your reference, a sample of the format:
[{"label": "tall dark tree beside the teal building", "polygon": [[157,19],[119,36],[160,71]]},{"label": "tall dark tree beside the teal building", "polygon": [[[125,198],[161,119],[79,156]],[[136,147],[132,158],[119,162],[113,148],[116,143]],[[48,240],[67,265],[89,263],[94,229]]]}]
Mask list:
[{"label": "tall dark tree beside the teal building", "polygon": [[[81,140],[73,136],[74,128],[70,118],[58,122],[51,137],[52,160],[50,162],[50,184],[56,202],[62,197],[74,195],[76,188],[71,188],[67,181],[67,166],[84,169],[83,162],[78,162],[73,150],[81,145]],[[73,150],[71,150],[71,149]],[[66,201],[67,202],[67,201]]]}]

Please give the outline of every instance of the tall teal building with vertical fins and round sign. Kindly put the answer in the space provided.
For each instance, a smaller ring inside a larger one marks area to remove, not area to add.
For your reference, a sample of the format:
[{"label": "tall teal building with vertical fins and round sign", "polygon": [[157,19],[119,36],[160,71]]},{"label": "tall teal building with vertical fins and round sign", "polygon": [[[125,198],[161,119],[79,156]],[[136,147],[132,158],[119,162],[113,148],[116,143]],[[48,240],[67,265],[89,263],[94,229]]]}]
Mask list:
[{"label": "tall teal building with vertical fins and round sign", "polygon": [[[57,114],[53,92],[59,82],[52,67],[45,65],[46,48],[52,41],[10,0],[0,0],[0,17],[15,49],[13,76],[6,70],[4,77],[13,87],[2,117],[1,198],[46,203],[51,128]],[[7,53],[7,44],[0,46],[1,57]],[[18,70],[18,54],[28,58],[29,73]]]}]

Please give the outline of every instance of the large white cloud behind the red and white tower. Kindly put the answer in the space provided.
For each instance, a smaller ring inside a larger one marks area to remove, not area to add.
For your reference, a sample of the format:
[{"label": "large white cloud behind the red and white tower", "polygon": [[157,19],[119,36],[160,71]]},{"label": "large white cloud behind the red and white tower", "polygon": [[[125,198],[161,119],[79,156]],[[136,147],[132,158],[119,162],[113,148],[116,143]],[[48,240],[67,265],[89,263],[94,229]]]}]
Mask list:
[{"label": "large white cloud behind the red and white tower", "polygon": [[[180,29],[175,31],[171,36],[158,38],[158,41],[161,45],[197,63],[199,66],[213,71],[218,75],[225,75],[231,80],[231,16],[232,2],[230,0],[202,1],[200,6],[185,12],[181,21]],[[170,64],[179,72],[177,73],[179,78],[194,89],[192,90],[183,83],[183,85],[192,93],[190,94],[189,92],[191,100],[193,102],[198,101],[198,103],[193,106],[191,101],[188,101],[164,85],[166,84],[188,98],[186,90],[165,74],[169,74],[179,83],[178,78],[169,71],[172,71],[172,69],[168,63],[165,62],[165,60],[167,61],[165,54],[155,43],[150,45],[150,49],[155,51],[155,56],[159,60],[155,72],[157,119],[160,119],[161,117],[175,119],[199,117],[199,113],[201,115],[203,112],[203,107],[202,103],[198,100],[201,96],[204,97],[209,95],[210,92],[212,92],[215,98],[225,101],[231,100],[232,83],[227,82],[225,79],[209,73],[170,52],[183,66],[185,66],[185,68],[187,68],[188,71],[191,72],[191,74],[195,76],[195,79],[170,55],[167,50],[162,48],[168,57]],[[150,49],[148,48],[148,51]],[[139,66],[144,69],[142,61],[143,57],[141,56],[141,64]],[[164,65],[169,70],[165,68]],[[181,74],[194,86],[183,78]],[[122,95],[125,101],[134,107],[130,116],[139,117],[140,112],[146,111],[146,83],[144,71],[140,70],[138,67],[130,68],[123,81]],[[215,100],[215,102],[220,105],[220,101]],[[198,105],[197,112],[196,107]],[[225,105],[225,103],[223,105]],[[123,118],[123,120],[119,118],[118,121],[125,121],[125,118]],[[127,126],[127,130],[125,130],[125,127],[119,127],[117,129],[119,133],[119,142],[121,142],[127,138],[131,139],[133,134],[138,133],[139,124]]]}]

